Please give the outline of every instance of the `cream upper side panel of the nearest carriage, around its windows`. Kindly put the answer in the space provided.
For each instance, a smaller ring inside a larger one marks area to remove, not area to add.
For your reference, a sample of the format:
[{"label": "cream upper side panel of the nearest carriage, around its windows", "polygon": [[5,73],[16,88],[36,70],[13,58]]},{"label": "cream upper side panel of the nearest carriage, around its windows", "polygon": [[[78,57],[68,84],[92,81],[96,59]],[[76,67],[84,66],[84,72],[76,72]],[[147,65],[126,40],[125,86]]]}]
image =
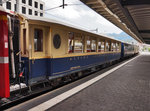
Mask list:
[{"label": "cream upper side panel of the nearest carriage, around its windows", "polygon": [[[22,23],[24,23],[24,24],[21,25],[21,30],[23,30],[24,28],[27,29],[27,32],[26,32],[26,35],[27,35],[26,47],[27,48],[26,48],[26,50],[28,52],[28,57],[30,59],[86,56],[86,55],[104,54],[104,53],[119,53],[121,51],[121,42],[120,41],[110,39],[103,35],[98,35],[95,33],[87,32],[87,31],[76,29],[73,27],[68,27],[68,26],[65,26],[62,24],[51,23],[51,22],[46,22],[46,21],[24,19],[22,21]],[[34,44],[35,29],[40,29],[43,32],[43,35],[42,35],[43,50],[42,51],[35,51],[35,44]],[[69,53],[68,52],[68,47],[69,47],[68,46],[68,41],[69,41],[68,33],[69,32],[74,32],[77,34],[77,36],[84,37],[83,53]],[[53,44],[53,38],[54,38],[54,35],[56,35],[56,34],[60,35],[60,40],[61,40],[61,44],[58,49],[56,49]],[[98,43],[98,40],[102,40],[104,42],[113,41],[115,43],[119,43],[120,49],[115,52],[114,51],[98,52],[98,49],[96,49],[96,52],[87,52],[86,40],[88,39],[89,36],[94,38],[94,40],[96,41],[96,44]],[[22,37],[21,37],[21,40],[22,40],[21,44],[24,44]],[[22,51],[23,51],[23,47],[24,47],[24,45],[21,45]]]}]

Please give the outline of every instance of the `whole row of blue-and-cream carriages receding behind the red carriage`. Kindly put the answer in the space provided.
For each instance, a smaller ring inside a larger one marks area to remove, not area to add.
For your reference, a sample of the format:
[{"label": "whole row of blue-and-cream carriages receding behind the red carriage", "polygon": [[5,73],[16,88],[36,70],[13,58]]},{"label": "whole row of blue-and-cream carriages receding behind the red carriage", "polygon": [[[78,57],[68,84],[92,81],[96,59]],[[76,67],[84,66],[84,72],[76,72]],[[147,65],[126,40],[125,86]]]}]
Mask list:
[{"label": "whole row of blue-and-cream carriages receding behind the red carriage", "polygon": [[73,79],[139,51],[137,45],[46,18],[11,16],[9,26],[10,87]]}]

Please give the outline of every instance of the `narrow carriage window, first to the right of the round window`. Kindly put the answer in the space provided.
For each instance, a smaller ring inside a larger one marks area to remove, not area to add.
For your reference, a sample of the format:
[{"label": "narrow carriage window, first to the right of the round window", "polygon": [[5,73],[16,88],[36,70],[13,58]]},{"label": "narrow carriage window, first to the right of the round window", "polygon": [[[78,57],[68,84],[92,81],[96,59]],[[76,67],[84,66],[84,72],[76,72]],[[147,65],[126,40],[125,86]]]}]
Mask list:
[{"label": "narrow carriage window, first to the right of the round window", "polygon": [[69,46],[68,52],[73,53],[74,52],[74,33],[73,32],[69,32],[68,46]]}]

